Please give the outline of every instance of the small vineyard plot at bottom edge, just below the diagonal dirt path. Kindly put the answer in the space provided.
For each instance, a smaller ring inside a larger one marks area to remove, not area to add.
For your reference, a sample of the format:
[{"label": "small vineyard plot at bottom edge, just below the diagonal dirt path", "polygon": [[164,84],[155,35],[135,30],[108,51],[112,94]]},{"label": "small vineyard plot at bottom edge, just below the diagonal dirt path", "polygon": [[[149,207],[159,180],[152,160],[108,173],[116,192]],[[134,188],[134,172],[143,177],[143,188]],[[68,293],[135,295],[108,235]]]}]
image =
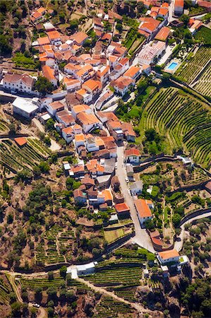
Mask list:
[{"label": "small vineyard plot at bottom edge, just below the diagonal dirt path", "polygon": [[97,314],[95,318],[111,318],[111,317],[125,317],[132,318],[134,310],[130,305],[114,300],[109,296],[103,296],[96,307]]}]

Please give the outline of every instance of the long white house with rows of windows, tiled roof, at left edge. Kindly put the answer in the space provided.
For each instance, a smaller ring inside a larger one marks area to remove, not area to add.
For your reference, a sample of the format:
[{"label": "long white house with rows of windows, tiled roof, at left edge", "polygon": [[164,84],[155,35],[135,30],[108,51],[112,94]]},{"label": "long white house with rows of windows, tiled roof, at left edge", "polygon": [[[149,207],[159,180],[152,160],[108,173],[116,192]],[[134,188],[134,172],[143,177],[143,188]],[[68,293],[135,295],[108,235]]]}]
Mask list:
[{"label": "long white house with rows of windows, tiled roof, at left edge", "polygon": [[23,93],[32,93],[35,80],[27,73],[10,74],[6,73],[3,78],[3,87],[7,90],[18,91]]}]

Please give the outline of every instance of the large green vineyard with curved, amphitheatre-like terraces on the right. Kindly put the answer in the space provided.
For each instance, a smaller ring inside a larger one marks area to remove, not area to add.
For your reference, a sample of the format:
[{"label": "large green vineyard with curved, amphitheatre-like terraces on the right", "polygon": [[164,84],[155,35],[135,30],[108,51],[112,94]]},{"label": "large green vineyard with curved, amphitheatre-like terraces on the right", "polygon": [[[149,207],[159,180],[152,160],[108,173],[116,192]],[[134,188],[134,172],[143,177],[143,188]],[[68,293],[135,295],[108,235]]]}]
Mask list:
[{"label": "large green vineyard with curved, amphitheatre-like terraces on the right", "polygon": [[164,136],[165,151],[184,148],[195,163],[210,168],[211,112],[188,93],[177,88],[162,88],[147,103],[140,120],[140,139],[145,130],[155,128]]}]

